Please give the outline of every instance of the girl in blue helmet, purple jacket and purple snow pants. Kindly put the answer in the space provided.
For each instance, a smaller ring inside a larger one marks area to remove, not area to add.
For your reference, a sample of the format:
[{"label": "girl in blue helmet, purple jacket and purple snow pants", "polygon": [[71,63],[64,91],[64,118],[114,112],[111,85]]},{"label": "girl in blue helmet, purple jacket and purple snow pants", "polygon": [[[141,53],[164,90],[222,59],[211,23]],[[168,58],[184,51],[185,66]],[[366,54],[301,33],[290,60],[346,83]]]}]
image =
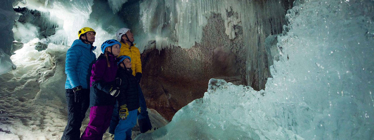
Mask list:
[{"label": "girl in blue helmet, purple jacket and purple snow pants", "polygon": [[[102,54],[92,65],[90,77],[90,121],[81,140],[102,140],[110,125],[115,97],[119,94],[116,87],[117,63],[121,44],[117,40],[107,40],[101,45]],[[104,54],[103,54],[104,53]]]}]

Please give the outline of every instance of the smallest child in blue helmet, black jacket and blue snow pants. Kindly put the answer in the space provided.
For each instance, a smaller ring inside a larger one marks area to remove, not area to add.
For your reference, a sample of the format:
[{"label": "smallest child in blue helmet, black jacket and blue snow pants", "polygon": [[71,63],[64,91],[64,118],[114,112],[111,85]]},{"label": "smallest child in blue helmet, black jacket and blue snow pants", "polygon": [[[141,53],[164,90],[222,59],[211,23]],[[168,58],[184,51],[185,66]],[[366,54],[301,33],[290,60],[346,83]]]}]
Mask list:
[{"label": "smallest child in blue helmet, black jacket and blue snow pants", "polygon": [[138,80],[132,75],[131,58],[120,56],[117,71],[117,96],[119,123],[114,131],[114,140],[131,140],[132,128],[137,124],[139,108]]}]

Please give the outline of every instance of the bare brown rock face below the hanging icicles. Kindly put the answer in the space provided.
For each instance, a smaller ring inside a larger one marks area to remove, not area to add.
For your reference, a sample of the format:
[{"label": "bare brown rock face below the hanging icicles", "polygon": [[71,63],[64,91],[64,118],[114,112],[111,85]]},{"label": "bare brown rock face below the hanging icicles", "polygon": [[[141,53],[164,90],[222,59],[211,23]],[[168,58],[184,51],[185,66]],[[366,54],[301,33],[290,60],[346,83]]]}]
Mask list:
[{"label": "bare brown rock face below the hanging icicles", "polygon": [[246,84],[241,35],[230,40],[224,31],[221,15],[212,15],[203,28],[201,43],[190,49],[174,46],[159,51],[153,47],[142,53],[140,84],[147,107],[171,121],[175,112],[203,97],[211,78]]}]

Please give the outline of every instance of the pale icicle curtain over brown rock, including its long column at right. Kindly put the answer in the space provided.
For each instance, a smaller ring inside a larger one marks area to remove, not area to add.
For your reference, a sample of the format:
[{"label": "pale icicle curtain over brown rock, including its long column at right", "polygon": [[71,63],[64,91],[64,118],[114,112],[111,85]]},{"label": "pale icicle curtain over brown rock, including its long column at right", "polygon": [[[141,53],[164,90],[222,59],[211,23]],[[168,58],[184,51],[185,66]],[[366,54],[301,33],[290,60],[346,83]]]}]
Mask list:
[{"label": "pale icicle curtain over brown rock, including its long column at right", "polygon": [[[195,42],[200,43],[207,19],[211,13],[220,13],[226,34],[217,35],[228,35],[230,39],[243,35],[247,84],[255,89],[264,88],[270,77],[265,38],[281,33],[285,24],[284,3],[272,0],[145,0],[140,4],[140,13],[144,34],[149,40],[156,40],[157,49],[190,48]],[[139,43],[141,49],[145,43]]]}]

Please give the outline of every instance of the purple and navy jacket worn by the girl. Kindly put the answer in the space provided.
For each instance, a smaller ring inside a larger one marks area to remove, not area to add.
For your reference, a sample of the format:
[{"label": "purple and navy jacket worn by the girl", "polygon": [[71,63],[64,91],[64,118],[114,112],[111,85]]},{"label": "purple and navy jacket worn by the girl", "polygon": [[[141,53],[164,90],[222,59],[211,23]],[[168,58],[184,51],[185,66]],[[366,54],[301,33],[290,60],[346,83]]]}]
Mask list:
[{"label": "purple and navy jacket worn by the girl", "polygon": [[115,97],[108,94],[112,86],[116,87],[116,73],[118,66],[116,57],[108,55],[110,67],[104,54],[101,54],[92,65],[90,77],[90,107],[108,106],[116,103]]}]

